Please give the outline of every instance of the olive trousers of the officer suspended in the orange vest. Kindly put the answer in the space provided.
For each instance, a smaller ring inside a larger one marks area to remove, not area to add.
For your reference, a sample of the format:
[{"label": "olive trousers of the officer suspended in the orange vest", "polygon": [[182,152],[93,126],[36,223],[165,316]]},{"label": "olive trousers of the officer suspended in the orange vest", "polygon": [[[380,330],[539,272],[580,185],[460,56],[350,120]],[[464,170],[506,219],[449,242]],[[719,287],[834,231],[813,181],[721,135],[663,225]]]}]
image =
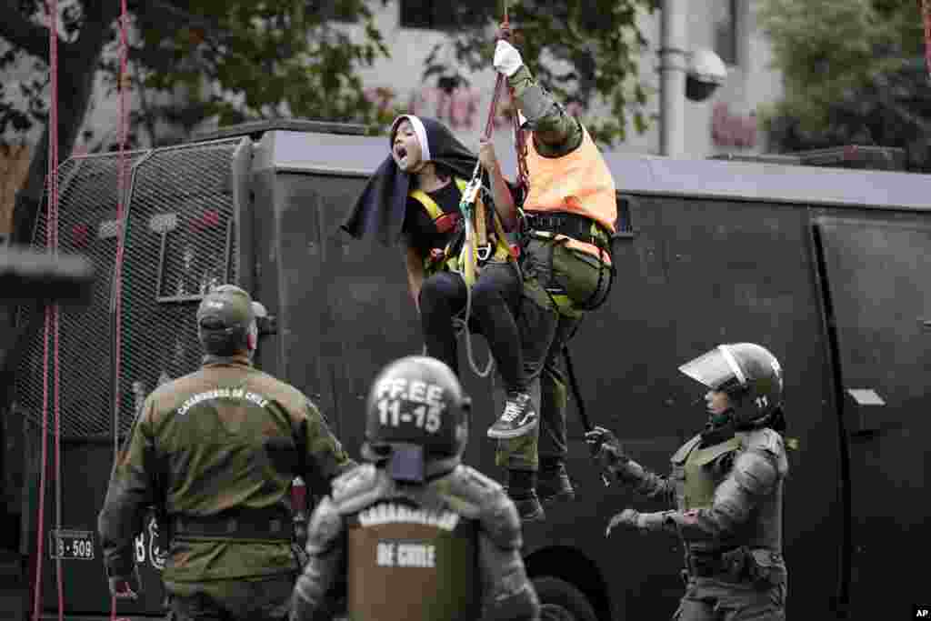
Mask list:
[{"label": "olive trousers of the officer suspended in the orange vest", "polygon": [[595,290],[598,297],[604,294],[610,268],[600,266],[585,252],[537,237],[532,237],[524,249],[521,267],[524,297],[518,319],[520,343],[540,425],[519,438],[498,440],[495,464],[537,470],[540,457],[562,458],[567,452],[567,393],[560,353],[585,316],[585,311],[575,304],[584,304]]}]

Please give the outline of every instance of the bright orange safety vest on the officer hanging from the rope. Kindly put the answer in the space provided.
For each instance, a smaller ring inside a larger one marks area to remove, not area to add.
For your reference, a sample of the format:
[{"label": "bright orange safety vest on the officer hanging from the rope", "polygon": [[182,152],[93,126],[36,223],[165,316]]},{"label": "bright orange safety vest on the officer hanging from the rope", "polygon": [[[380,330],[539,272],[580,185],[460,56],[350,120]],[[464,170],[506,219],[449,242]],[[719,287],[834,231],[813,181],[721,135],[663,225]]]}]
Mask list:
[{"label": "bright orange safety vest on the officer hanging from the rope", "polygon": [[[575,213],[614,233],[617,220],[614,177],[586,128],[582,128],[582,143],[560,157],[540,155],[531,133],[527,137],[527,172],[530,192],[524,200],[525,211]],[[565,236],[558,236],[562,237]],[[598,247],[592,244],[569,238],[566,245],[599,256]]]}]

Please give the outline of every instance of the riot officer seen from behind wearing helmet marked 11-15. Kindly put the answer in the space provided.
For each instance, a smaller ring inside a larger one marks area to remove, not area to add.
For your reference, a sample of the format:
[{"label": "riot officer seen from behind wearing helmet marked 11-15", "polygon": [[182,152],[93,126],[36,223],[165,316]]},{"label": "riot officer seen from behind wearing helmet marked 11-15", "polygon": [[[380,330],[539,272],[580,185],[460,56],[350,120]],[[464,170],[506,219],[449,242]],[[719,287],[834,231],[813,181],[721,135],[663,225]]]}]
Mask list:
[{"label": "riot officer seen from behind wearing helmet marked 11-15", "polygon": [[352,619],[538,618],[517,509],[461,463],[469,410],[436,358],[401,358],[378,375],[366,463],[335,480],[311,518],[291,621],[314,618],[341,581]]}]

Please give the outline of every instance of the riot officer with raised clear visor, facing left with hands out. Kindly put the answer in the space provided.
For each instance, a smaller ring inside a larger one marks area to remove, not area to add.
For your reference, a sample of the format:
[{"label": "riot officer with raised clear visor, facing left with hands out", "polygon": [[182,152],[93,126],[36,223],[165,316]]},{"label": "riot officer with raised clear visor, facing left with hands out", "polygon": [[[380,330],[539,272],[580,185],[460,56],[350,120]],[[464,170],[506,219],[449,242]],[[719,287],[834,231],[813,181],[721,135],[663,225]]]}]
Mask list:
[{"label": "riot officer with raised clear visor, facing left with hands out", "polygon": [[607,533],[624,527],[681,537],[687,587],[674,617],[680,621],[784,619],[782,494],[789,463],[779,363],[758,344],[722,344],[680,370],[708,387],[708,424],[672,455],[669,477],[627,457],[607,429],[587,434],[614,479],[676,507],[627,508]]}]

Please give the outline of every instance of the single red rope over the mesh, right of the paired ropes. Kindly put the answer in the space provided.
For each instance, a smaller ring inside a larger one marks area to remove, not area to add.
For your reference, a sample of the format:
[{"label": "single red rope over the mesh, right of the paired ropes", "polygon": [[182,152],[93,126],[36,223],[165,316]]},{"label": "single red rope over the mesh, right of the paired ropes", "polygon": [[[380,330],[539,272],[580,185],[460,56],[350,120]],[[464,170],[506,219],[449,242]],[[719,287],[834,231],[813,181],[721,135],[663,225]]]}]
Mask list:
[{"label": "single red rope over the mesh, right of the paired ropes", "polygon": [[[120,0],[120,62],[119,77],[119,172],[116,183],[116,260],[114,265],[114,464],[119,456],[119,411],[120,411],[120,358],[121,351],[121,317],[122,317],[122,287],[123,287],[123,250],[125,246],[124,233],[124,205],[126,196],[126,142],[128,135],[128,117],[126,114],[126,86],[127,86],[127,3]],[[116,597],[110,598],[110,619],[116,619]]]}]

